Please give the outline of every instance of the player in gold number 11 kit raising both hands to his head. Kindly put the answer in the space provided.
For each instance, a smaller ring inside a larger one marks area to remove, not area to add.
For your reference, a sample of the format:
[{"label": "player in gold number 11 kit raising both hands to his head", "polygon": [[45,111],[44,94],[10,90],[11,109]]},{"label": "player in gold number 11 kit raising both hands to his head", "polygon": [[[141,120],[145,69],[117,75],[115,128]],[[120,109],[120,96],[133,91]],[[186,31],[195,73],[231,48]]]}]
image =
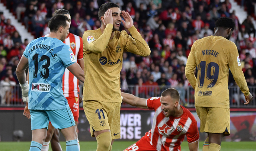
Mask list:
[{"label": "player in gold number 11 kit raising both hands to his head", "polygon": [[[122,18],[124,20],[122,20]],[[91,135],[96,137],[97,151],[112,149],[114,139],[120,138],[120,71],[123,52],[148,56],[146,41],[133,26],[128,12],[115,3],[105,3],[99,9],[101,27],[83,35],[84,88],[83,106],[90,123]],[[121,25],[127,32],[118,31]]]}]

